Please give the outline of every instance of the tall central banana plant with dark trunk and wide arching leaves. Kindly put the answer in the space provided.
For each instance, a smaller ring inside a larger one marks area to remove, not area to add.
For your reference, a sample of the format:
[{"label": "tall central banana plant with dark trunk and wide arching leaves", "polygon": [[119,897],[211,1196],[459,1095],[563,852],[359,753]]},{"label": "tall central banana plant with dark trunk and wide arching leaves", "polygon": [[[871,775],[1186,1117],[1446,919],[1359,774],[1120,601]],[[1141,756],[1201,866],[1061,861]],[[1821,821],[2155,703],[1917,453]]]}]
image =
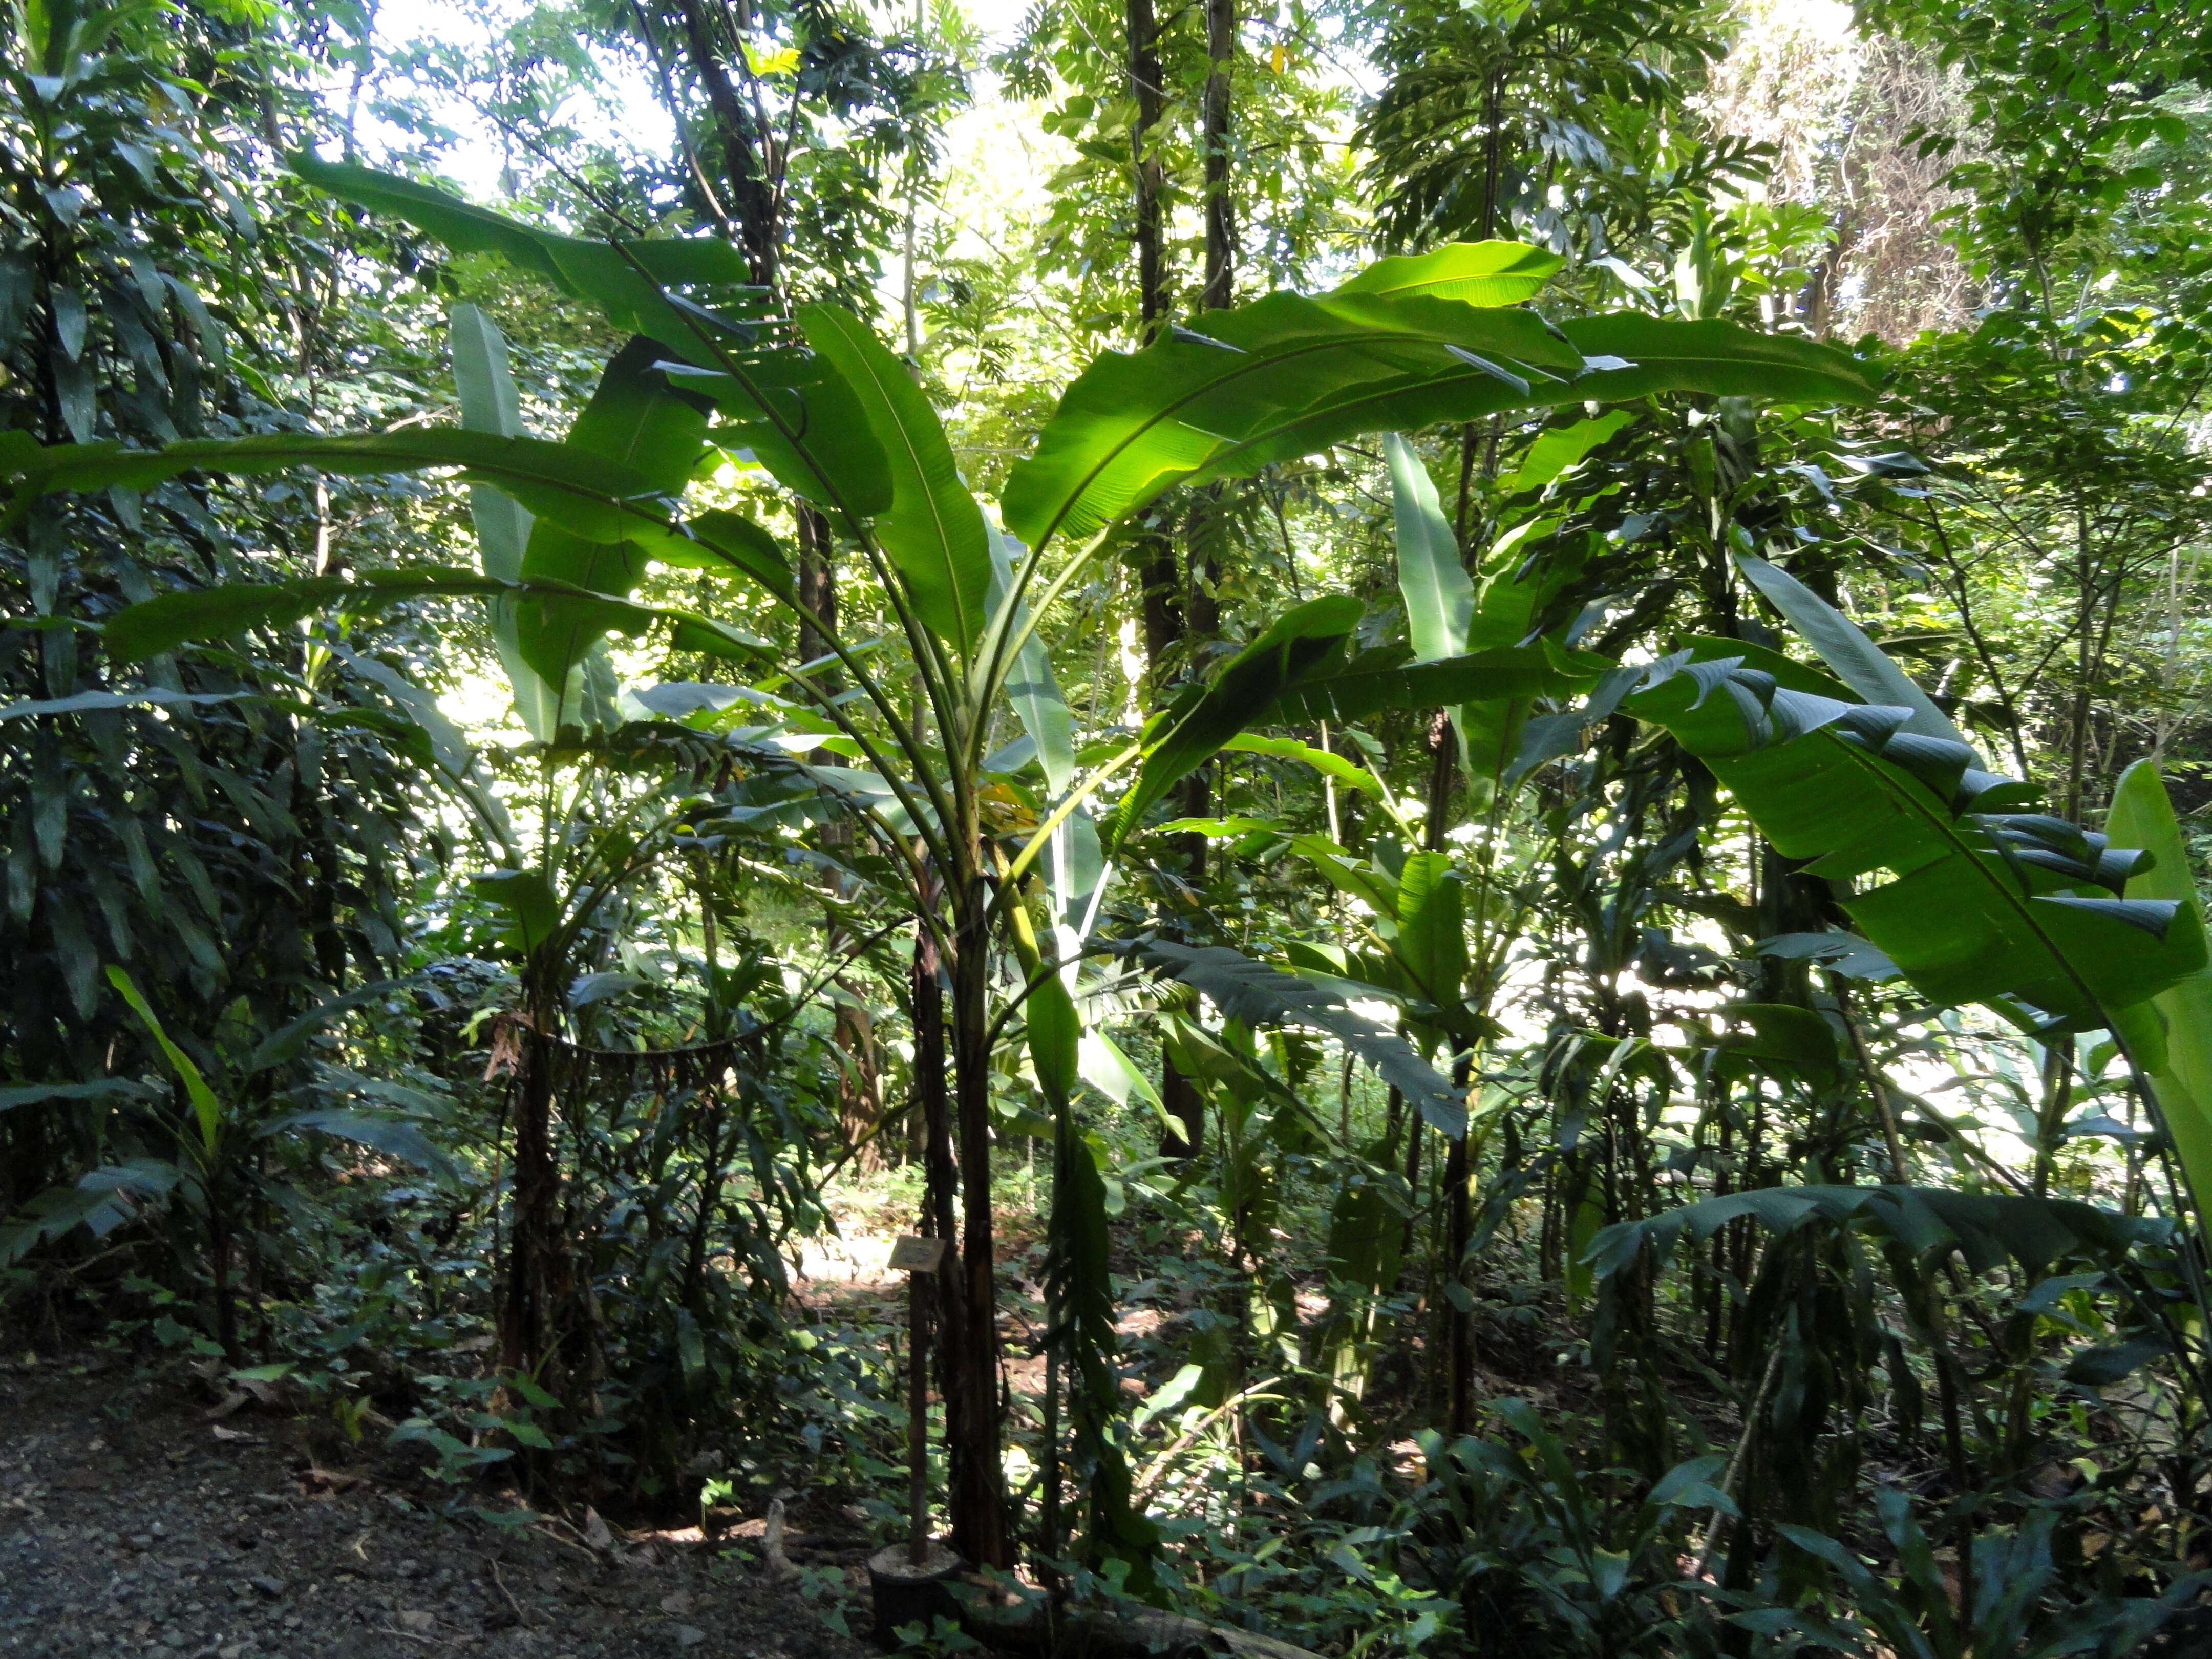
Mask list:
[{"label": "tall central banana plant with dark trunk and wide arching leaves", "polygon": [[[949,1126],[953,1146],[942,1150],[958,1152],[964,1192],[958,1252],[940,1301],[951,1400],[949,1509],[956,1546],[1000,1566],[1011,1564],[1013,1548],[998,1455],[991,1048],[1020,1013],[1033,1055],[1040,1044],[1053,1055],[1037,1064],[1040,1079],[1057,1077],[1066,1044],[1055,1020],[1068,1018],[1060,1006],[1066,909],[1053,920],[1055,958],[1037,951],[1024,982],[993,984],[993,945],[1018,940],[1024,878],[1040,860],[1055,860],[1055,847],[1057,863],[1075,867],[1068,854],[1079,832],[1060,832],[1133,765],[1130,785],[1099,821],[1099,849],[1108,858],[1175,781],[1254,723],[1482,701],[1515,688],[1548,688],[1559,677],[1553,653],[1540,646],[1429,664],[1407,664],[1402,653],[1354,657],[1360,606],[1327,597],[1261,630],[1212,686],[1192,688],[1121,752],[1077,772],[1060,750],[1064,728],[1055,730],[1051,699],[1035,692],[1042,681],[1033,668],[1024,672],[1024,664],[1035,664],[1040,619],[1102,555],[1115,524],[1161,489],[1252,473],[1365,431],[1663,389],[1814,403],[1871,396],[1851,358],[1834,349],[1723,323],[1597,316],[1553,327],[1515,305],[1542,283],[1542,254],[1500,243],[1444,248],[1383,261],[1323,296],[1276,294],[1208,314],[1203,336],[1179,330],[1144,352],[1097,358],[1068,387],[1035,451],[1009,476],[1002,513],[1011,542],[1000,542],[907,365],[836,305],[765,316],[763,296],[741,283],[732,248],[666,239],[593,243],[365,168],[314,157],[294,166],[365,208],[445,239],[456,252],[498,254],[637,330],[617,356],[622,374],[611,365],[602,387],[606,407],[595,398],[591,416],[599,425],[604,414],[604,429],[619,440],[599,442],[586,429],[571,442],[544,442],[504,431],[498,411],[476,431],[285,434],[157,451],[40,449],[7,434],[0,478],[9,502],[0,529],[13,526],[46,491],[144,487],[184,471],[456,469],[471,487],[493,489],[531,513],[522,557],[511,566],[179,591],[117,615],[104,648],[111,659],[131,661],[190,639],[323,613],[367,613],[405,597],[491,599],[500,608],[502,659],[520,659],[544,681],[555,703],[555,739],[571,708],[571,675],[608,633],[666,628],[679,650],[739,661],[763,655],[761,639],[712,615],[641,602],[637,586],[648,560],[741,582],[827,644],[854,695],[838,692],[807,664],[783,670],[790,695],[849,745],[856,765],[847,768],[854,776],[843,781],[852,785],[843,799],[905,874],[916,925],[945,964],[951,993],[951,1099],[936,1108],[925,1102],[925,1119]],[[1502,248],[1511,257],[1502,259]],[[878,584],[900,650],[867,655],[847,644],[799,593],[790,560],[761,524],[681,507],[684,487],[710,449],[750,456],[796,502],[827,518]],[[509,546],[520,524],[511,531]],[[1004,551],[1004,568],[993,549]],[[920,723],[905,703],[909,686],[918,688]],[[1015,834],[987,825],[984,814],[989,734],[993,714],[1009,703],[1031,723],[1040,750],[1053,748],[1062,757],[1055,765],[1064,761],[1051,796],[1037,801],[1035,825]],[[918,1042],[933,1044],[938,1033],[920,1031]],[[1055,1110],[1066,1121],[1066,1110]],[[1064,1137],[1060,1144],[1071,1157],[1060,1192],[1079,1203],[1091,1190],[1079,1164],[1095,1155],[1088,1144]],[[1095,1298],[1102,1259],[1095,1252],[1064,1259],[1086,1263],[1084,1294]],[[1084,1329],[1097,1345],[1110,1340],[1095,1318]],[[1110,1460],[1099,1469],[1113,1480]]]}]

